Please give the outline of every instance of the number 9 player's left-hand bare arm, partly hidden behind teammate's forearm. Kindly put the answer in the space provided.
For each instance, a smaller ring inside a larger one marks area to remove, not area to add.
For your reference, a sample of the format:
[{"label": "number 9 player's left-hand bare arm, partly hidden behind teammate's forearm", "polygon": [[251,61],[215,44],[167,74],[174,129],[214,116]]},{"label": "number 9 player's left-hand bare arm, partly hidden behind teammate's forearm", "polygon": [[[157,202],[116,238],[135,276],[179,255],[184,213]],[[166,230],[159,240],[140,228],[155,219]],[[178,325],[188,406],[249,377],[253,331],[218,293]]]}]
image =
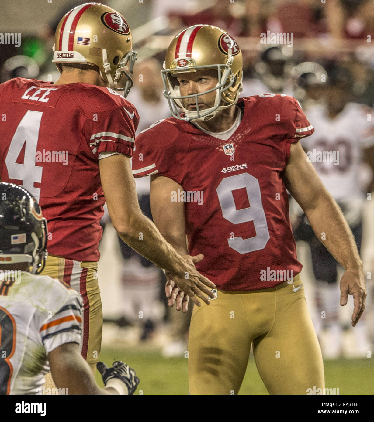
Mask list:
[{"label": "number 9 player's left-hand bare arm, partly hidden behind teammate's forearm", "polygon": [[[161,235],[179,254],[186,257],[188,256],[188,249],[184,203],[170,200],[170,192],[176,192],[178,188],[183,190],[183,187],[169,177],[152,175],[150,178],[150,207],[153,221]],[[190,258],[194,263],[197,263],[203,259],[203,255]],[[184,313],[187,312],[188,296],[184,295],[184,292],[174,283],[170,273],[166,273],[166,276],[165,293],[169,298],[169,306],[172,307],[176,303],[177,311],[183,309]]]}]

